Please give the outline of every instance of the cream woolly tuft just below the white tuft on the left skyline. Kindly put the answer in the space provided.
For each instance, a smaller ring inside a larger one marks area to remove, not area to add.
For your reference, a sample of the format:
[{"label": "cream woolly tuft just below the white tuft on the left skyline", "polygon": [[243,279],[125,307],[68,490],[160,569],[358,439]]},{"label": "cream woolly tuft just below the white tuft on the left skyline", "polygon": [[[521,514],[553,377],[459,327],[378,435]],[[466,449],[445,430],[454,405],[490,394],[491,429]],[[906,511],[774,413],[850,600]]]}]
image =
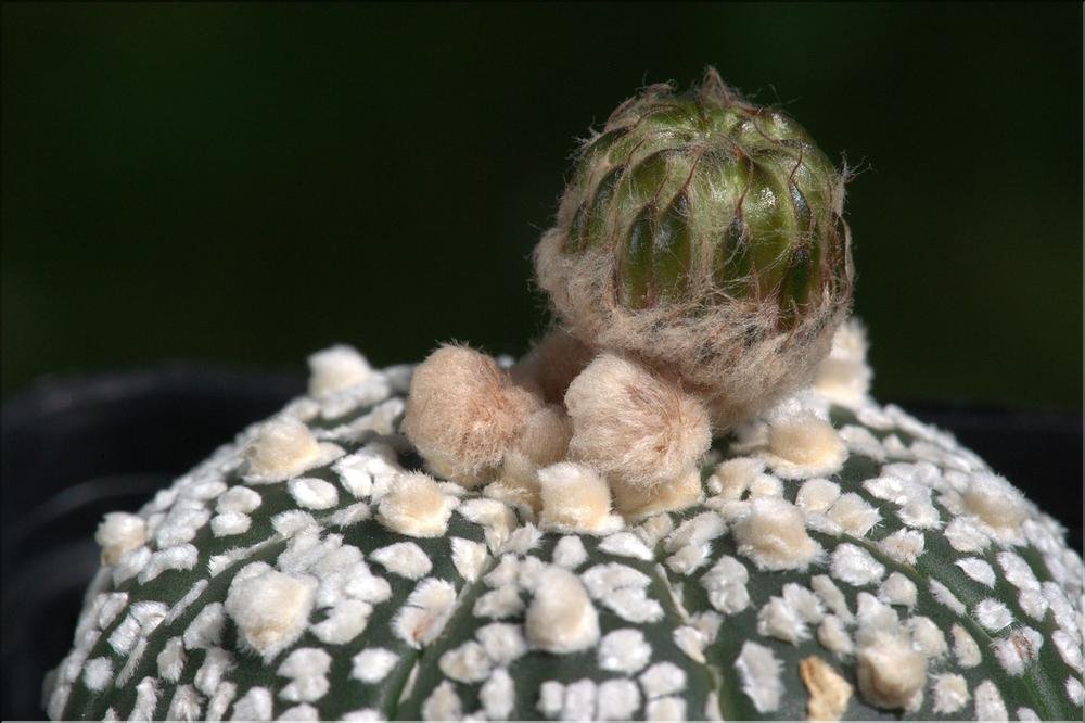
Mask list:
[{"label": "cream woolly tuft just below the white tuft on the left skyline", "polygon": [[334,444],[321,444],[305,424],[279,417],[265,422],[245,449],[252,481],[278,481],[330,464],[342,455]]}]

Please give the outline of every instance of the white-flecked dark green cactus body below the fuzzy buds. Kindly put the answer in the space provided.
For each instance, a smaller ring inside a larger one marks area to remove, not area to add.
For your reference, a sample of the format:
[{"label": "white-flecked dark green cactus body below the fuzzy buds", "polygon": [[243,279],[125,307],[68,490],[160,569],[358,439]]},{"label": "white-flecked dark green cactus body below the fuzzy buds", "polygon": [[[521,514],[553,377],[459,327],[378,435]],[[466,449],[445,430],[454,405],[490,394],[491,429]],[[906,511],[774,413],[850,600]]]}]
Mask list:
[{"label": "white-flecked dark green cactus body below the fuzzy buds", "polygon": [[[322,443],[305,465],[254,475],[255,426],[115,520],[50,714],[1081,720],[1081,559],[899,409],[815,395],[831,469],[775,457],[755,421],[716,442],[701,504],[607,534],[444,482],[418,536],[387,504],[419,465],[395,433],[408,376],[290,405],[276,423]],[[800,516],[808,560],[743,536],[762,507]],[[583,600],[540,630],[551,580]],[[894,650],[918,683],[878,667]]]}]

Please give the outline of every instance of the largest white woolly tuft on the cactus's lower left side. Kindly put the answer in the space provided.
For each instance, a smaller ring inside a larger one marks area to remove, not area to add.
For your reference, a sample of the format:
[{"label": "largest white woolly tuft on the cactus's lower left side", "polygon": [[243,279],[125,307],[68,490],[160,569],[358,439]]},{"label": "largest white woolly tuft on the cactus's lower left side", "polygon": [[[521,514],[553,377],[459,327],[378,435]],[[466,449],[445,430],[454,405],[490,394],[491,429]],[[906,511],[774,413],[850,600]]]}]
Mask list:
[{"label": "largest white woolly tuft on the cactus's lower left side", "polygon": [[242,642],[266,661],[271,660],[305,631],[317,581],[270,568],[248,575],[242,572],[230,583],[226,611],[237,623]]}]

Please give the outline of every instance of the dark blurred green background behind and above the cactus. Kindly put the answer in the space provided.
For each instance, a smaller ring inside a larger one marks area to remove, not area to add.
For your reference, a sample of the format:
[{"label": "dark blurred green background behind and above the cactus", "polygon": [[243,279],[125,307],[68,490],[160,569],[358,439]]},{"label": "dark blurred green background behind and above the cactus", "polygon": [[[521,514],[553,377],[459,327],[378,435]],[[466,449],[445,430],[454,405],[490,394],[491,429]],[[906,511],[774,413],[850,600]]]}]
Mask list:
[{"label": "dark blurred green background behind and above the cactus", "polygon": [[521,352],[574,137],[705,64],[863,173],[876,392],[1078,408],[1082,7],[12,4],[3,393]]}]

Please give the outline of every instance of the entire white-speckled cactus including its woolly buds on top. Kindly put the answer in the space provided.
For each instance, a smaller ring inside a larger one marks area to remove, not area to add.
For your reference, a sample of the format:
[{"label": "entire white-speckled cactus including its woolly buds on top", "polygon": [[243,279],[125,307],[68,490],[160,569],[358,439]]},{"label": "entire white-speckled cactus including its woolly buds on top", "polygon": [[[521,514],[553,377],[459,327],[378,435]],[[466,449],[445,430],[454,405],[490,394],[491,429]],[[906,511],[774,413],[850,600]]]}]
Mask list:
[{"label": "entire white-speckled cactus including its woolly buds on top", "polygon": [[582,148],[522,359],[310,357],[138,513],[63,719],[1081,720],[1082,560],[869,396],[843,174],[710,69]]}]

